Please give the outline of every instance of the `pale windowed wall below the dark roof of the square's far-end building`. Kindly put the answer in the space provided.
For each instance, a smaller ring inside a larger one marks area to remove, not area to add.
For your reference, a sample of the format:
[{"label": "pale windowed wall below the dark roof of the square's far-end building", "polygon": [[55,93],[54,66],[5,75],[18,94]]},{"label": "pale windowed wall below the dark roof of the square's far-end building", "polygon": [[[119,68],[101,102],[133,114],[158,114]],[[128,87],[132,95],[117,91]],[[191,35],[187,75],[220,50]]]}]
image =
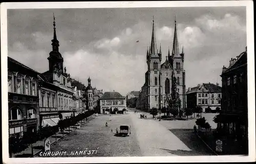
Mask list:
[{"label": "pale windowed wall below the dark roof of the square's far-end building", "polygon": [[[113,101],[117,101],[117,104],[114,104]],[[105,109],[118,108],[119,111],[126,109],[126,100],[125,99],[110,99],[110,100],[100,100],[100,113],[105,113]]]}]

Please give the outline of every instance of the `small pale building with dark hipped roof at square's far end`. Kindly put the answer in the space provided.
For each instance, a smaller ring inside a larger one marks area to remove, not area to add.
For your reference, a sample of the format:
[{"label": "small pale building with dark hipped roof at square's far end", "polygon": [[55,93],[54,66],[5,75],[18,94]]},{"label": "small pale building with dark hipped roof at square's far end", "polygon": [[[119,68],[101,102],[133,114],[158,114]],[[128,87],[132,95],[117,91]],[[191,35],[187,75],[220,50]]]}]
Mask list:
[{"label": "small pale building with dark hipped roof at square's far end", "polygon": [[126,109],[126,100],[119,92],[107,91],[104,92],[99,99],[100,113],[106,113],[105,110],[109,109],[110,112],[116,108],[118,111]]}]

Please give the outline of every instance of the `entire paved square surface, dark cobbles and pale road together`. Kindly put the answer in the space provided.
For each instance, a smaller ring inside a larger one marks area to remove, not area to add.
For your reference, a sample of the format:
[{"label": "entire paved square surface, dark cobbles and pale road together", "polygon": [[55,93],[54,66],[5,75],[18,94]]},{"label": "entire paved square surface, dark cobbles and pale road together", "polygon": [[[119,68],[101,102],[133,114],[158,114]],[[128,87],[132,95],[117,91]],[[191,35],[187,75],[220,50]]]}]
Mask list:
[{"label": "entire paved square surface, dark cobbles and pale road together", "polygon": [[[140,119],[140,114],[129,109],[126,114],[112,114],[112,121],[109,121],[108,115],[100,114],[78,129],[77,134],[67,135],[56,145],[52,145],[51,152],[67,152],[65,156],[69,157],[214,155],[193,130],[178,129],[179,127],[169,129],[164,126],[165,121],[152,120],[148,113],[147,120]],[[105,127],[106,122],[108,127]],[[114,136],[115,129],[120,125],[131,126],[130,136]],[[98,151],[90,155],[75,154],[75,151],[79,153],[83,150]]]}]

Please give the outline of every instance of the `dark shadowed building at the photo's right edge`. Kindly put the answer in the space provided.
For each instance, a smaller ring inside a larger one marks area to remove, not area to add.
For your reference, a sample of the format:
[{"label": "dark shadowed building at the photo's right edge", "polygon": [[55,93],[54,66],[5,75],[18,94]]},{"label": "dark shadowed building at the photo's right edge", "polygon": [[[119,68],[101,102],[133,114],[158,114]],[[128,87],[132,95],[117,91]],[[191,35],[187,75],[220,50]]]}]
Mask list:
[{"label": "dark shadowed building at the photo's right edge", "polygon": [[221,77],[222,110],[215,121],[219,129],[247,143],[247,48],[237,58],[231,58],[228,67],[223,66]]}]

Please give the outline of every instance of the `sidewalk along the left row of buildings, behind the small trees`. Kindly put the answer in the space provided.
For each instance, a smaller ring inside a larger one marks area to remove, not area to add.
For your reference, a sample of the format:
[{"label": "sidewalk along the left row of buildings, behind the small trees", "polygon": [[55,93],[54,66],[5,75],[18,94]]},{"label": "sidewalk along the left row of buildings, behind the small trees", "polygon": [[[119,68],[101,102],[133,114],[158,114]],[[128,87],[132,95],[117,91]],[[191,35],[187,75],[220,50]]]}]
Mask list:
[{"label": "sidewalk along the left row of buildings, behind the small trees", "polygon": [[[92,119],[93,118],[87,119],[86,123],[88,123]],[[74,129],[70,127],[70,131],[67,128],[67,130],[64,130],[64,134],[62,134],[62,132],[58,132],[56,137],[55,137],[55,134],[53,134],[52,136],[49,137],[51,145],[54,144],[56,141],[58,142],[59,139],[62,139],[66,135],[70,134],[72,131],[74,131]],[[33,155],[36,155],[36,154],[38,154],[39,152],[41,152],[43,150],[44,150],[44,139],[38,140],[36,143],[33,144]],[[20,153],[12,154],[12,158],[13,157],[16,157],[16,158],[32,157],[31,153],[32,153],[31,152],[31,145],[29,145],[29,147],[27,149],[25,149],[24,151],[22,151]]]}]

